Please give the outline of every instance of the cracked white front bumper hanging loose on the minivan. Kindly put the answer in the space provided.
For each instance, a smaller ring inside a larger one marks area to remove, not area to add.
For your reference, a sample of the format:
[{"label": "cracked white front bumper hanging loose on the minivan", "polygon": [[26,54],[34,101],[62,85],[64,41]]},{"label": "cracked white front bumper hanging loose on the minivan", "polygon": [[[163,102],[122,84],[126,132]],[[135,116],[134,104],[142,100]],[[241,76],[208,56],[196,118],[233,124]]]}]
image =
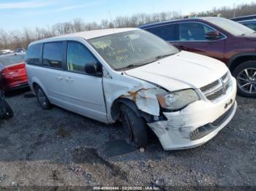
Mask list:
[{"label": "cracked white front bumper hanging loose on the minivan", "polygon": [[164,112],[167,120],[148,123],[165,150],[189,149],[206,143],[222,130],[236,113],[236,80],[223,98],[213,103],[206,98],[179,112]]}]

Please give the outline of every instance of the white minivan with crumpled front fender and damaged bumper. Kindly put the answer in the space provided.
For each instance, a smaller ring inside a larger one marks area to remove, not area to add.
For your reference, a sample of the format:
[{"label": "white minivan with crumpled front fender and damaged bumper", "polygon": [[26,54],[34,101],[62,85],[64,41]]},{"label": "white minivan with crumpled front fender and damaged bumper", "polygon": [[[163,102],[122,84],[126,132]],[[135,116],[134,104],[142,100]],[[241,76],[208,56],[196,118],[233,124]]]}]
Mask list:
[{"label": "white minivan with crumpled front fender and damaged bumper", "polygon": [[43,109],[54,104],[105,123],[121,120],[136,147],[146,146],[148,130],[166,150],[197,147],[237,108],[236,79],[224,63],[138,28],[33,42],[26,69]]}]

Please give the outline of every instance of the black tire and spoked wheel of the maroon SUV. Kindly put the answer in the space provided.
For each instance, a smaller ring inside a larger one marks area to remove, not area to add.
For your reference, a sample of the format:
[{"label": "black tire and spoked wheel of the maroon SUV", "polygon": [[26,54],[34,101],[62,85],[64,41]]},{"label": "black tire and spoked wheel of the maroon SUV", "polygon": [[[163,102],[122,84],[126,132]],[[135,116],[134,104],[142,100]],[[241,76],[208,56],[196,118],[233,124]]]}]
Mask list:
[{"label": "black tire and spoked wheel of the maroon SUV", "polygon": [[248,98],[256,98],[256,61],[246,61],[233,70],[236,78],[238,94]]}]

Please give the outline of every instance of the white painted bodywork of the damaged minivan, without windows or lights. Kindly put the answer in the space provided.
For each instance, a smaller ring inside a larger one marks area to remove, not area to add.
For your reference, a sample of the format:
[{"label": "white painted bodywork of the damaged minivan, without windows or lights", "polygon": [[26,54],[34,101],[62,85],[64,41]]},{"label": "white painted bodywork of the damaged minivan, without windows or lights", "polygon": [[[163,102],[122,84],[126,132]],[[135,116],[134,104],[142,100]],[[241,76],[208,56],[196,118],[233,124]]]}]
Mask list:
[{"label": "white painted bodywork of the damaged minivan, without windows or lights", "polygon": [[[111,116],[111,107],[118,98],[135,101],[140,111],[158,119],[160,109],[157,94],[192,88],[200,96],[200,101],[189,104],[179,112],[165,112],[163,114],[167,120],[152,122],[148,125],[157,134],[164,149],[196,147],[213,138],[232,119],[236,112],[236,106],[230,117],[219,128],[203,138],[190,141],[189,133],[202,125],[217,120],[227,111],[228,108],[225,109],[225,104],[229,103],[230,99],[235,101],[236,79],[233,78],[230,82],[230,89],[217,101],[208,101],[200,91],[200,87],[214,82],[227,73],[228,69],[225,64],[203,55],[181,51],[176,55],[136,69],[125,72],[114,71],[85,40],[133,30],[139,29],[118,28],[86,31],[39,41],[73,40],[84,44],[102,63],[104,74],[100,78],[26,65],[31,90],[34,90],[32,84],[36,82],[53,104],[94,120],[111,123],[115,122]],[[66,79],[72,79],[72,81]]]}]

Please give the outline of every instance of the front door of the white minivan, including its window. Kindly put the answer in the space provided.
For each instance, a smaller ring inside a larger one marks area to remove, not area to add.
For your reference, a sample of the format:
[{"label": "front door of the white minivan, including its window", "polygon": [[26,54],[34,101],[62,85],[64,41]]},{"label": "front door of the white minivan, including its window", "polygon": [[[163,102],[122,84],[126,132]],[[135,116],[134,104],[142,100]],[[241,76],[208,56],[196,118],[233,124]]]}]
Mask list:
[{"label": "front door of the white minivan, including its window", "polygon": [[[102,76],[86,74],[87,63],[97,59],[80,42],[67,42],[67,67],[63,74],[62,90],[65,107],[87,117],[106,122]],[[100,70],[100,69],[99,69]]]}]

